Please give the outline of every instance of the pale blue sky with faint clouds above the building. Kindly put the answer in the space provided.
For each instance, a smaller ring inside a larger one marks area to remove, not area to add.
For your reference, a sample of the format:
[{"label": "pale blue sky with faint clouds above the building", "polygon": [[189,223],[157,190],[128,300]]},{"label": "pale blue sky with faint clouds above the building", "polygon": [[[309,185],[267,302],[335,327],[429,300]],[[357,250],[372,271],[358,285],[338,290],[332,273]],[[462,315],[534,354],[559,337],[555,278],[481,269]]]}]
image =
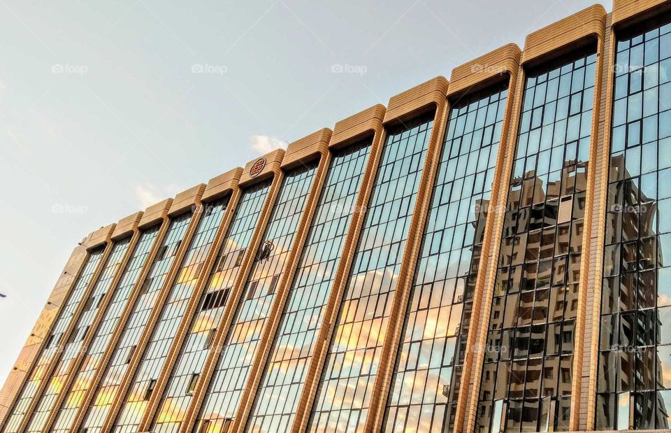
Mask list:
[{"label": "pale blue sky with faint clouds above the building", "polygon": [[0,1],[0,378],[87,233],[593,3]]}]

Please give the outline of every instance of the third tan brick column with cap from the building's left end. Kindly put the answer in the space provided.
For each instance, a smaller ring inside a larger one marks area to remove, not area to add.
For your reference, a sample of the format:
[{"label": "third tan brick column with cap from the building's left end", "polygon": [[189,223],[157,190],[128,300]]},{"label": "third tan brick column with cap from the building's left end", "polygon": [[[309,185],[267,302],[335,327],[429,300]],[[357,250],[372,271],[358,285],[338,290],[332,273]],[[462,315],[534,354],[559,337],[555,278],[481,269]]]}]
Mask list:
[{"label": "third tan brick column with cap from the building's left end", "polygon": [[149,206],[148,208],[145,209],[145,211],[142,214],[142,218],[140,218],[140,220],[138,221],[137,224],[138,230],[147,229],[148,227],[152,227],[157,224],[160,224],[161,228],[159,229],[159,233],[157,234],[157,237],[154,240],[154,245],[152,246],[152,249],[150,250],[150,253],[147,256],[147,260],[145,260],[145,264],[143,265],[142,271],[140,271],[140,275],[138,276],[138,280],[136,281],[133,287],[131,297],[129,298],[126,304],[126,308],[124,308],[124,311],[122,312],[117,322],[117,327],[114,333],[112,334],[112,336],[110,336],[110,341],[108,342],[108,346],[105,350],[105,353],[101,358],[100,365],[96,370],[96,374],[93,376],[91,380],[89,390],[87,390],[86,395],[82,398],[82,404],[78,410],[77,416],[75,417],[72,427],[72,430],[75,432],[79,430],[80,425],[84,421],[87,409],[89,405],[92,403],[93,397],[96,393],[96,390],[98,389],[98,385],[101,379],[103,378],[103,374],[105,374],[107,365],[110,362],[110,359],[117,346],[117,342],[121,338],[126,322],[133,311],[133,307],[140,294],[140,289],[142,288],[143,281],[145,281],[145,278],[147,278],[147,274],[149,274],[149,271],[152,268],[152,264],[154,263],[154,258],[156,257],[159,248],[161,248],[161,243],[163,243],[166,233],[168,232],[168,227],[170,226],[170,220],[168,219],[168,210],[170,209],[172,203],[173,199],[165,199],[163,201],[159,201],[157,204]]}]

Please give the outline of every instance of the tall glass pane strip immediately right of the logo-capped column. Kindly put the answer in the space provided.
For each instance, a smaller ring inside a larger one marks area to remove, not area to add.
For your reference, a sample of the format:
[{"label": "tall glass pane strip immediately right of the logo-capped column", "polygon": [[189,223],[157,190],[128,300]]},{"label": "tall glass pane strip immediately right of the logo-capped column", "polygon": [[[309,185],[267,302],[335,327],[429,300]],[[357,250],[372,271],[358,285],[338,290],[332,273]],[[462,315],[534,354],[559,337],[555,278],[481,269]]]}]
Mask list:
[{"label": "tall glass pane strip immediately right of the logo-capped column", "polygon": [[238,410],[316,171],[317,164],[312,163],[289,171],[282,180],[259,253],[205,396],[199,416],[201,432],[222,431],[226,419],[233,418]]}]

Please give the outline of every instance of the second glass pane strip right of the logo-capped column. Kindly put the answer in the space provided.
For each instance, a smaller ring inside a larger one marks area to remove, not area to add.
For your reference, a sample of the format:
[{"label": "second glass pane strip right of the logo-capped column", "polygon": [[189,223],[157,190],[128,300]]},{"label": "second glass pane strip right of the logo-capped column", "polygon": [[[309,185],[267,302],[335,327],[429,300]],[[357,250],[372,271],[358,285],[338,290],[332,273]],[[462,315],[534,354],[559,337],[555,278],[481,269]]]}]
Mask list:
[{"label": "second glass pane strip right of the logo-capped column", "polygon": [[305,241],[301,262],[268,356],[247,430],[289,430],[296,413],[322,309],[331,294],[343,243],[370,152],[370,139],[335,152]]}]

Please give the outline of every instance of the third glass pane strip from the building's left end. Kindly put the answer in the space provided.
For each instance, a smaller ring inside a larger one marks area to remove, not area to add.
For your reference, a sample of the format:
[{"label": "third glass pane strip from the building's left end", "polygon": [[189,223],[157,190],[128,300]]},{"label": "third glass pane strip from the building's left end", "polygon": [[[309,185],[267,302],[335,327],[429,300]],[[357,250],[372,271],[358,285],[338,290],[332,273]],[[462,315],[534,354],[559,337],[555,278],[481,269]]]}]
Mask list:
[{"label": "third glass pane strip from the building's left end", "polygon": [[82,400],[91,388],[91,381],[100,367],[101,358],[109,347],[112,334],[117,329],[119,318],[128,304],[131,290],[140,278],[140,272],[145,266],[152,246],[154,246],[159,234],[159,227],[154,226],[140,234],[140,239],[128,266],[115,289],[105,316],[101,320],[91,346],[87,350],[86,357],[81,367],[79,367],[77,376],[75,376],[70,390],[68,390],[68,395],[66,395],[61,406],[53,427],[54,432],[66,433],[72,427],[78,409],[82,405]]}]

